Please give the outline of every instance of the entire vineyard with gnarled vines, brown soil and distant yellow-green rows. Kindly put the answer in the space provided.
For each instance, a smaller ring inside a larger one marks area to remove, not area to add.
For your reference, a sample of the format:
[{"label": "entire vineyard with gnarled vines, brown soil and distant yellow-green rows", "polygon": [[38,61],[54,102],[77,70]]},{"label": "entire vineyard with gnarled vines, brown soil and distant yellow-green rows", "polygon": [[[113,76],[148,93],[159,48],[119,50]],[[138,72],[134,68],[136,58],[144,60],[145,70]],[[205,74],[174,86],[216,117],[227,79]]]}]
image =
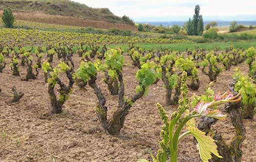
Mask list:
[{"label": "entire vineyard with gnarled vines, brown soil and distant yellow-green rows", "polygon": [[253,47],[145,50],[136,43],[187,40],[0,33],[3,161],[256,158]]}]

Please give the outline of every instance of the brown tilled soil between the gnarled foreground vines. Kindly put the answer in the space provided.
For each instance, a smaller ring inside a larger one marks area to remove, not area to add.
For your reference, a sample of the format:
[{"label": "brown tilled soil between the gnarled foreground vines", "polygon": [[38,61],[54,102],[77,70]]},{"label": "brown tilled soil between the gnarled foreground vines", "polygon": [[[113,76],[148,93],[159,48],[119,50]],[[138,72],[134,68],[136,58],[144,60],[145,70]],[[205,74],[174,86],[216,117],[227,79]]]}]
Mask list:
[{"label": "brown tilled soil between the gnarled foreground vines", "polygon": [[[8,59],[9,63],[10,59]],[[55,60],[56,62],[56,60]],[[74,57],[76,68],[79,58]],[[241,70],[248,71],[245,64]],[[124,67],[125,93],[131,96],[137,85],[136,68],[126,56]],[[22,76],[26,69],[21,69]],[[225,71],[212,86],[216,92],[228,89],[233,69]],[[90,87],[79,89],[74,86],[73,94],[65,103],[65,112],[49,116],[48,86],[43,82],[40,72],[36,80],[21,81],[21,77],[12,76],[8,66],[0,73],[2,93],[0,94],[0,161],[117,161],[134,162],[140,158],[150,159],[148,151],[158,149],[159,132],[162,126],[156,109],[156,103],[164,105],[165,90],[162,82],[153,85],[147,96],[138,100],[131,108],[130,114],[119,136],[110,136],[100,126],[95,113],[96,96]],[[200,75],[202,94],[209,82],[206,75]],[[111,96],[99,75],[98,83],[108,99],[110,114],[117,105],[117,96]],[[17,103],[9,104],[12,97],[11,88],[16,86],[25,96]],[[166,107],[168,114],[175,107]],[[246,139],[243,142],[244,162],[256,161],[256,119],[244,120]],[[219,121],[215,127],[222,132],[224,139],[230,143],[234,130],[227,118]],[[200,161],[193,138],[186,138],[179,145],[180,162]]]}]

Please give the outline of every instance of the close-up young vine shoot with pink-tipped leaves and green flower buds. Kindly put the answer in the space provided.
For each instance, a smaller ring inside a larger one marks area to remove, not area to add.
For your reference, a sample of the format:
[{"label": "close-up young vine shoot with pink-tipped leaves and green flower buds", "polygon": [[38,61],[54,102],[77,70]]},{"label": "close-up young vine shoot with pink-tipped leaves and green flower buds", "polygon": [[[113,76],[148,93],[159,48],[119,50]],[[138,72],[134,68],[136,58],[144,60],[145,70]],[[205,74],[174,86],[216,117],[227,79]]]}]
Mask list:
[{"label": "close-up young vine shoot with pink-tipped leaves and green flower buds", "polygon": [[[227,102],[238,102],[241,98],[239,95],[234,96],[230,92],[226,92],[222,95],[215,95],[214,100],[211,102],[199,102],[196,107],[189,109],[186,80],[187,74],[183,72],[181,77],[182,98],[179,100],[178,110],[170,117],[167,116],[164,107],[159,103],[157,104],[160,118],[164,126],[160,132],[163,140],[159,142],[157,155],[154,157],[151,154],[154,162],[165,162],[169,161],[169,159],[171,162],[177,162],[179,143],[186,136],[194,136],[197,140],[197,148],[203,162],[208,162],[208,160],[212,158],[212,155],[222,158],[218,153],[214,139],[210,136],[206,136],[205,132],[196,127],[195,118],[211,117],[223,120],[226,115],[223,115],[219,110],[213,110],[212,107]],[[184,128],[186,131],[181,133]]]}]

